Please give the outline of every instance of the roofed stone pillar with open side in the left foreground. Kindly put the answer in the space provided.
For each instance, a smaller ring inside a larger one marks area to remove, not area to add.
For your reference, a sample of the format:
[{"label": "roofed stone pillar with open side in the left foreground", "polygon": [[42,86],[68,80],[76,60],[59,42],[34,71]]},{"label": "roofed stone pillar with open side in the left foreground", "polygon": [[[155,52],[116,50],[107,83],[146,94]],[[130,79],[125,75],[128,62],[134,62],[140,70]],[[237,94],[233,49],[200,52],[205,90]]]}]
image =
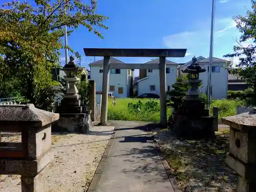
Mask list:
[{"label": "roofed stone pillar with open side in the left foreground", "polygon": [[21,143],[1,142],[5,147],[0,148],[0,174],[21,175],[22,192],[48,191],[42,187],[41,171],[54,158],[51,123],[59,114],[36,109],[33,104],[2,105],[0,114],[1,132],[22,133]]}]

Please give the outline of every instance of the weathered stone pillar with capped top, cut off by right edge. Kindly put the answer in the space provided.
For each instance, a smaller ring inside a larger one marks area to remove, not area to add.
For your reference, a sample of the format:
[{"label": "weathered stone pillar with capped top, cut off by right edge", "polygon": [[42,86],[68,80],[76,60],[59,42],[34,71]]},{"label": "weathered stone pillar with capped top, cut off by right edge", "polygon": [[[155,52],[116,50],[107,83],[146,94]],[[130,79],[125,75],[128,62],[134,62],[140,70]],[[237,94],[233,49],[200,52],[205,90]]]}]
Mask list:
[{"label": "weathered stone pillar with capped top, cut off by right edge", "polygon": [[226,163],[238,174],[237,192],[256,191],[256,115],[222,118],[230,126]]}]

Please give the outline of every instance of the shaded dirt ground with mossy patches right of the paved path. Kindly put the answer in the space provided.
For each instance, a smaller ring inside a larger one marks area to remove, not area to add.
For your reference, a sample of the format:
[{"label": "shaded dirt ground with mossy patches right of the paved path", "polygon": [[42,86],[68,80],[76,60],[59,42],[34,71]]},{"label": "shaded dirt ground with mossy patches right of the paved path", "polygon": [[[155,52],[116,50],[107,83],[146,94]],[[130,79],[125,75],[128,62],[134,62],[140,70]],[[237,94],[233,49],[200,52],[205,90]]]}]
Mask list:
[{"label": "shaded dirt ground with mossy patches right of the paved path", "polygon": [[236,175],[224,162],[229,129],[220,129],[212,141],[178,140],[168,129],[155,130],[154,135],[182,191],[234,191]]}]

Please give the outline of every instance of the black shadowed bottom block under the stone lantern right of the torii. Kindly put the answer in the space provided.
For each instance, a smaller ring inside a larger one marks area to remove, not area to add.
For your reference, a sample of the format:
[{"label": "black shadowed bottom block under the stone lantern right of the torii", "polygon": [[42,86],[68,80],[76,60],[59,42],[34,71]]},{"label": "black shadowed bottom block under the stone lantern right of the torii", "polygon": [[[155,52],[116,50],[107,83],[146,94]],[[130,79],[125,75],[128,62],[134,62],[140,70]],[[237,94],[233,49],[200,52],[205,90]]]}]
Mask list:
[{"label": "black shadowed bottom block under the stone lantern right of the torii", "polygon": [[188,118],[176,116],[174,129],[179,137],[187,139],[212,138],[214,132],[214,117]]}]

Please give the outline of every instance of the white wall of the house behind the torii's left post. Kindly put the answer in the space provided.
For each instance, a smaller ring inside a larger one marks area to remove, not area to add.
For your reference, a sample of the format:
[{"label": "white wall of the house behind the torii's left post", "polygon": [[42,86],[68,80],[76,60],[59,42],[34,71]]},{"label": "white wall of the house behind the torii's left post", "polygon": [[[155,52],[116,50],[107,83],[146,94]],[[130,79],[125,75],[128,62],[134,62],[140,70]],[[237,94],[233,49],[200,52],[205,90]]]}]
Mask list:
[{"label": "white wall of the house behind the torii's left post", "polygon": [[[102,76],[99,70],[103,70],[103,66],[90,66],[91,80],[95,80],[96,91],[102,91]],[[127,69],[121,69],[120,74],[109,73],[109,92],[115,97],[127,97]],[[110,91],[110,86],[115,86],[115,91]],[[123,94],[118,93],[118,87],[123,88]]]}]

